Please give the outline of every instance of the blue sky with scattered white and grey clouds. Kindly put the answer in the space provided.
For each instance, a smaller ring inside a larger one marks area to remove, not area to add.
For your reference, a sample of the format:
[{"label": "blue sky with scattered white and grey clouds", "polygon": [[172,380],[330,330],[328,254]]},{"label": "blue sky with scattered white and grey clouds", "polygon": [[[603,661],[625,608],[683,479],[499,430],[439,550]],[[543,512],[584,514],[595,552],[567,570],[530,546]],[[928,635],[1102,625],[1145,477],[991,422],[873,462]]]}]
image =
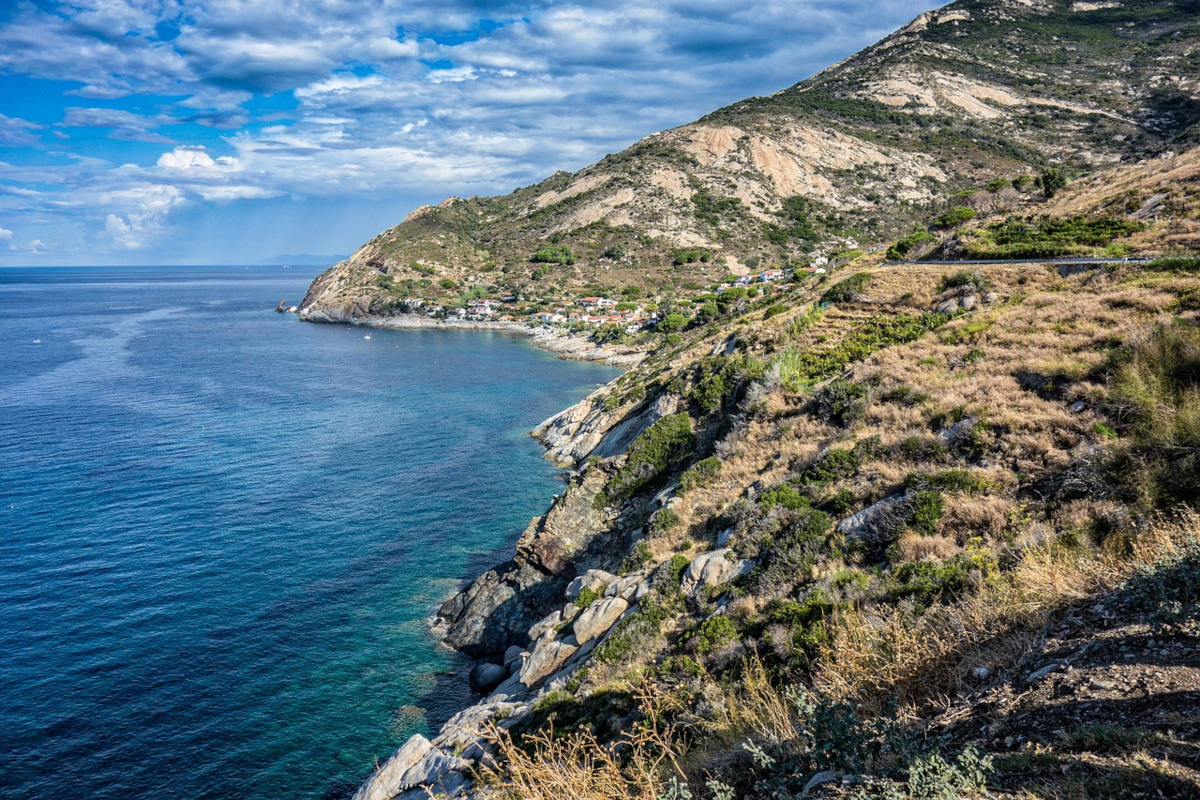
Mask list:
[{"label": "blue sky with scattered white and grey clouds", "polygon": [[418,205],[581,169],[931,7],[0,0],[0,265],[350,253]]}]

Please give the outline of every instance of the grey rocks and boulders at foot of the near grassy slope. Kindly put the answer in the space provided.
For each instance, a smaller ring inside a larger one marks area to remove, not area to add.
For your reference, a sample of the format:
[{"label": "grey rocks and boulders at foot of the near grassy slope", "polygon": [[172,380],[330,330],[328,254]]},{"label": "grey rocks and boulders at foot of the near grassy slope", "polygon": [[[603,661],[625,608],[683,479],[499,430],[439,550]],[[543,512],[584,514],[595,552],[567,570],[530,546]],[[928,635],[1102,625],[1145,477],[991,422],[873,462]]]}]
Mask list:
[{"label": "grey rocks and boulders at foot of the near grassy slope", "polygon": [[[546,513],[529,523],[514,557],[450,597],[434,618],[434,631],[448,645],[476,658],[470,682],[481,698],[434,736],[412,736],[354,800],[485,796],[470,774],[487,762],[490,732],[520,724],[542,696],[564,688],[654,587],[653,570],[616,576],[600,569],[607,554],[628,548],[640,531],[594,507],[608,476],[584,459],[623,452],[658,419],[674,413],[679,399],[664,396],[622,415],[605,409],[608,391],[596,390],[534,428],[548,457],[582,469],[571,473],[566,491]],[[672,499],[665,491],[655,503],[666,506]],[[727,555],[726,549],[697,555],[684,576],[685,590],[707,591],[745,567]],[[576,603],[584,591],[596,600]]]}]

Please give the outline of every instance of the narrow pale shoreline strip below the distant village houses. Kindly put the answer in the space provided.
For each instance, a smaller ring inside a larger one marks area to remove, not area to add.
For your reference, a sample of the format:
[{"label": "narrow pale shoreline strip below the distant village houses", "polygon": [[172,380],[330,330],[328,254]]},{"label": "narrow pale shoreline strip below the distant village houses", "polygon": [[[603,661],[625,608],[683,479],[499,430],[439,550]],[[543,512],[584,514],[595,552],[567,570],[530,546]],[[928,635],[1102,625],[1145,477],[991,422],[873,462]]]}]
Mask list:
[{"label": "narrow pale shoreline strip below the distant village houses", "polygon": [[464,331],[505,331],[509,333],[524,336],[532,344],[562,359],[574,359],[578,361],[595,361],[614,367],[637,366],[646,353],[637,348],[622,345],[596,344],[586,333],[570,333],[553,327],[538,327],[523,323],[509,323],[502,320],[472,320],[472,319],[432,319],[424,314],[392,314],[392,315],[349,315],[317,308],[305,308],[300,311],[300,319],[306,323],[326,323],[332,325],[361,325],[364,327],[383,329],[431,329],[431,330],[464,330]]}]

